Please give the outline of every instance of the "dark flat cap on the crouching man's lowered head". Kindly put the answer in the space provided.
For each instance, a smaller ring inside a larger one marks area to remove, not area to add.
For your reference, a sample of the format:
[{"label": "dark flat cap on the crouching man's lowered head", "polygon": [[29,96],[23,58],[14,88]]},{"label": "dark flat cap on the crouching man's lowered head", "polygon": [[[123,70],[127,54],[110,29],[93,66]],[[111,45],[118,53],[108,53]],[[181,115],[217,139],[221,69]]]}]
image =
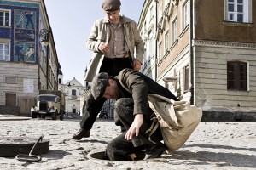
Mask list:
[{"label": "dark flat cap on the crouching man's lowered head", "polygon": [[93,77],[91,82],[91,94],[94,99],[101,99],[108,85],[108,73],[101,72]]}]

